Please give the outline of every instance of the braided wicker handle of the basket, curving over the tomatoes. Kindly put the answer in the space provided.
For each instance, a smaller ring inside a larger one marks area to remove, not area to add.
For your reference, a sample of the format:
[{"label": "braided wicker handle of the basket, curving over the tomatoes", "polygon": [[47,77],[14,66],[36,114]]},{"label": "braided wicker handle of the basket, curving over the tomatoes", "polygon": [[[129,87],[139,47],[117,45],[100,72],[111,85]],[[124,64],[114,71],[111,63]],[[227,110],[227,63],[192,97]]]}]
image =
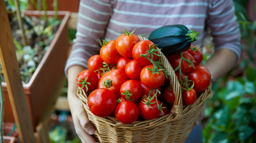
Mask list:
[{"label": "braided wicker handle of the basket, curving over the tomatoes", "polygon": [[[141,37],[139,36],[139,39],[142,40],[148,40],[145,37]],[[159,49],[157,47],[157,49]],[[175,118],[174,121],[181,119],[182,117],[182,112],[183,112],[183,105],[182,105],[182,96],[181,96],[181,87],[180,87],[180,83],[178,81],[178,78],[175,75],[175,72],[171,66],[171,64],[169,63],[168,59],[165,57],[165,55],[163,55],[163,53],[159,50],[157,51],[159,55],[162,56],[161,58],[161,63],[162,66],[166,69],[168,74],[168,78],[170,80],[172,89],[173,89],[173,93],[175,94],[175,101],[174,104],[172,106],[171,112],[174,113]],[[158,57],[160,58],[160,56]],[[168,120],[171,117],[171,115],[169,115],[166,120]]]}]

